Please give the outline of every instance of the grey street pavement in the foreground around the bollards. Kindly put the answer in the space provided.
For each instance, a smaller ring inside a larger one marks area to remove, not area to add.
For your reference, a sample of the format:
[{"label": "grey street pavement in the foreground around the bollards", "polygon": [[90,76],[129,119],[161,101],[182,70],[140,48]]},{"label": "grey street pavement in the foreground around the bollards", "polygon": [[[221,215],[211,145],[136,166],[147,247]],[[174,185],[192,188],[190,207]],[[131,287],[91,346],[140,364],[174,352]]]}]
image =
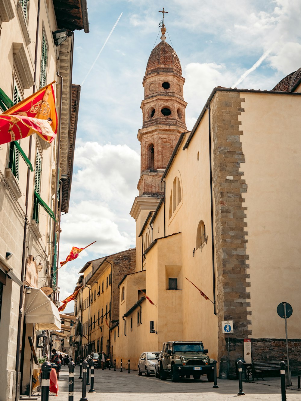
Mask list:
[{"label": "grey street pavement in the foreground around the bollards", "polygon": [[[79,377],[79,367],[75,368],[74,375],[74,401],[79,401],[82,395],[82,382]],[[297,389],[297,377],[293,377],[293,386],[287,389],[287,401],[301,401],[301,392]],[[127,369],[122,373],[120,369],[108,369],[102,371],[95,369],[94,389],[95,393],[89,393],[87,386],[86,397],[88,401],[118,400],[118,401],[228,401],[237,397],[242,400],[256,401],[281,401],[280,377],[268,377],[264,381],[243,382],[244,395],[238,396],[238,381],[218,380],[218,389],[212,388],[207,378],[201,377],[199,381],[183,379],[178,383],[172,383],[170,379],[161,381],[153,375],[138,376],[137,371]],[[39,399],[39,397],[38,397]],[[59,379],[58,397],[49,395],[49,400],[68,401],[68,369],[63,366]]]}]

